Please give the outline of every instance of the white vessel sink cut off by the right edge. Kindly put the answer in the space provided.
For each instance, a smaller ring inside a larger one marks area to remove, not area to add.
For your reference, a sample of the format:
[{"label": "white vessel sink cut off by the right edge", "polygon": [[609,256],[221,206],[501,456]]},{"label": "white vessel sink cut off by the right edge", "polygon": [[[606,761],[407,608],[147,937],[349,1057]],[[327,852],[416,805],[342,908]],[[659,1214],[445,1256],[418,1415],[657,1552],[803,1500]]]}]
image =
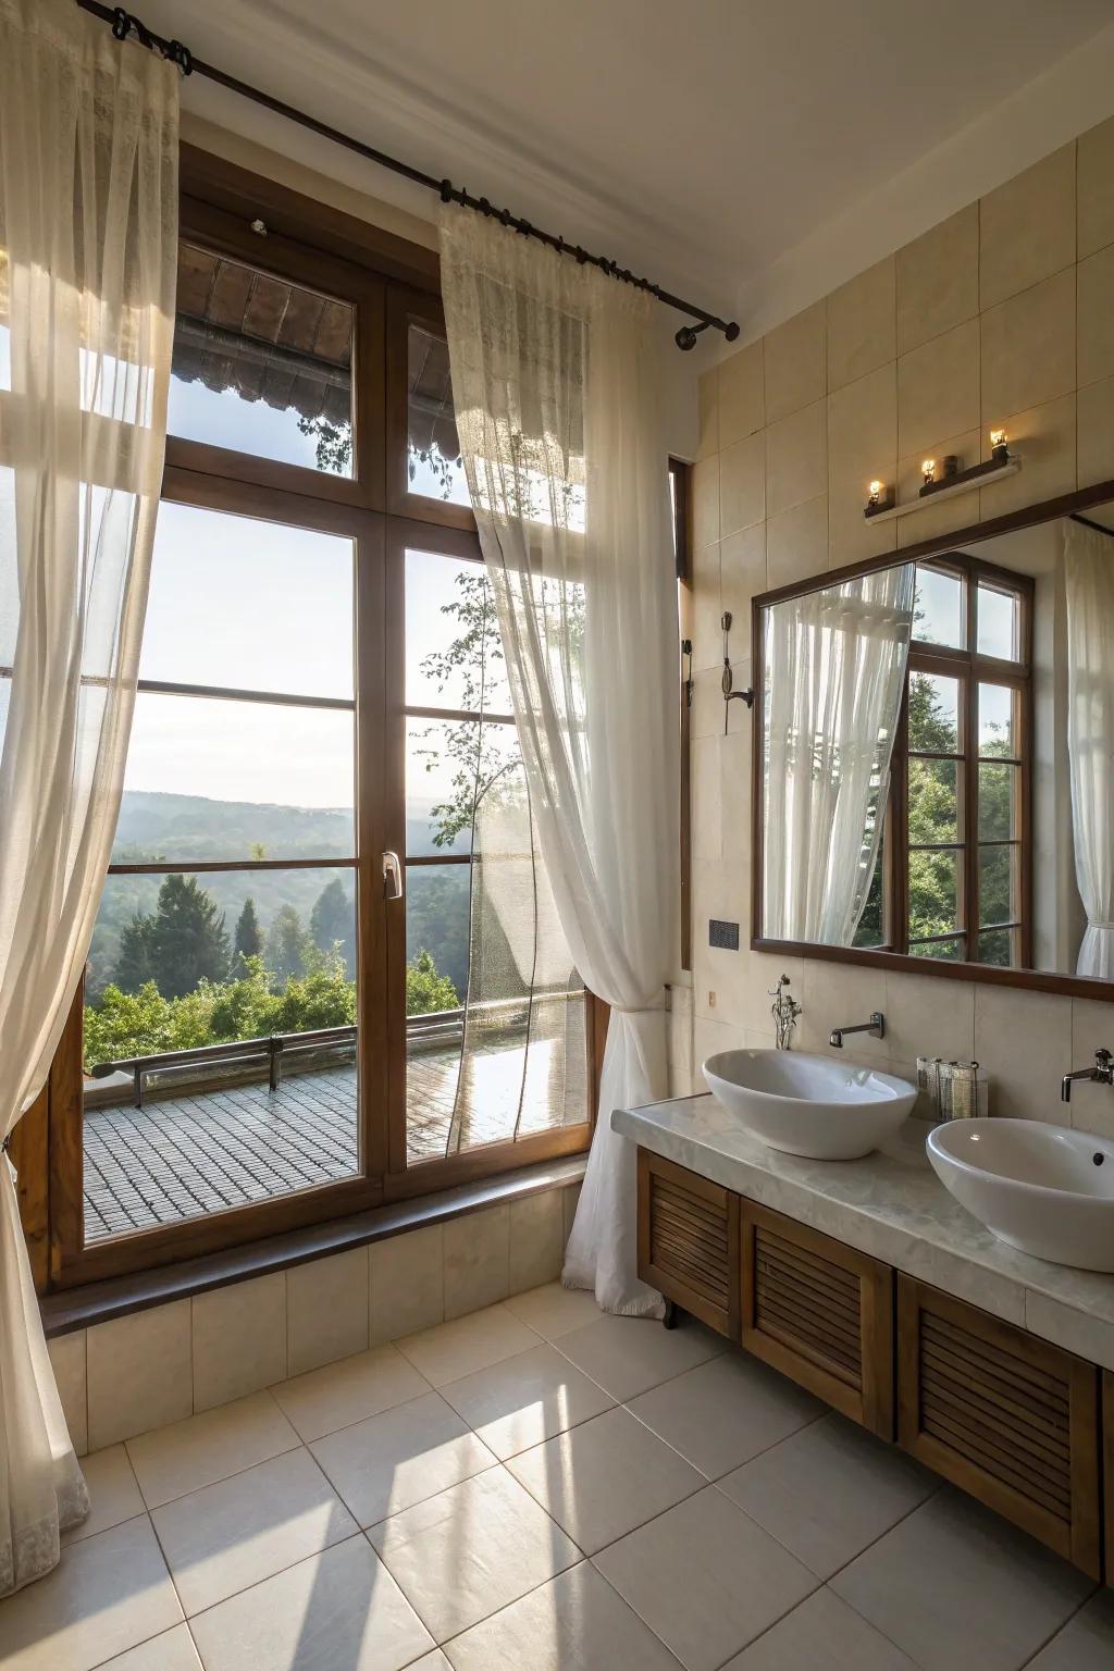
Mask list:
[{"label": "white vessel sink cut off by the right edge", "polygon": [[929,1133],[929,1160],[1000,1242],[1114,1272],[1114,1143],[1041,1120],[955,1120]]}]

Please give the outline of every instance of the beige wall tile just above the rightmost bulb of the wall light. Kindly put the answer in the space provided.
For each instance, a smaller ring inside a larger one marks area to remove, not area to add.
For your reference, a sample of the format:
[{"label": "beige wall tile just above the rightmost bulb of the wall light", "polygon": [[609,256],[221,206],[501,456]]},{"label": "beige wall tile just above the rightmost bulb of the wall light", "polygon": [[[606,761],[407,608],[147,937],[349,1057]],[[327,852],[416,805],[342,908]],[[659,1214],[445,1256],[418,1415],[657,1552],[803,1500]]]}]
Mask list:
[{"label": "beige wall tile just above the rightmost bulb of the wall light", "polygon": [[982,316],[982,421],[1076,388],[1076,274],[1057,272]]}]

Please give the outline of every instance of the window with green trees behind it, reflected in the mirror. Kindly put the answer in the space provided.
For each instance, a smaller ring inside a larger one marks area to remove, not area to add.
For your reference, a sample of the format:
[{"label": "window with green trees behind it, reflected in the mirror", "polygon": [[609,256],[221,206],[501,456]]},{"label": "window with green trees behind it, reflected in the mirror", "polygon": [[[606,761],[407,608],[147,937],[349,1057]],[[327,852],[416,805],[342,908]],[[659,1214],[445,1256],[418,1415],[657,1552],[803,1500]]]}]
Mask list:
[{"label": "window with green trees behind it, reflected in the mirror", "polygon": [[855,944],[1025,968],[1032,582],[955,551],[917,565],[875,882]]}]

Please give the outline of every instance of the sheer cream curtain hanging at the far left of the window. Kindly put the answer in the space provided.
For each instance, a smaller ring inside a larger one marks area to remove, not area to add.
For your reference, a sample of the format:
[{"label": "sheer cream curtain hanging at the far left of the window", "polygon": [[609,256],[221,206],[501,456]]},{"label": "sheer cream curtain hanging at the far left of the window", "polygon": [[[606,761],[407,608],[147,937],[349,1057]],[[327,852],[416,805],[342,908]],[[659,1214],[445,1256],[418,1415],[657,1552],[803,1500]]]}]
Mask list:
[{"label": "sheer cream curtain hanging at the far left of the window", "polygon": [[[179,72],[0,0],[0,1135],[80,978],[124,775],[174,331]],[[0,1158],[0,1596],[89,1512]]]}]

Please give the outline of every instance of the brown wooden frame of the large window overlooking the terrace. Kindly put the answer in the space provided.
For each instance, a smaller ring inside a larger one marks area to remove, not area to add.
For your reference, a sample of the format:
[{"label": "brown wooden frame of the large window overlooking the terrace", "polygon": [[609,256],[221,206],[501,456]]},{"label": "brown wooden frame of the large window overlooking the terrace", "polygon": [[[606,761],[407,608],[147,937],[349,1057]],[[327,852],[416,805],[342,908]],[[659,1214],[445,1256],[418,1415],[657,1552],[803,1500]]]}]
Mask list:
[{"label": "brown wooden frame of the large window overlooking the terrace", "polygon": [[[266,237],[251,222],[266,217]],[[443,328],[436,256],[247,170],[182,149],[180,237],[259,264],[356,309],[356,475],[167,439],[164,498],[352,538],[356,550],[356,859],[359,921],[361,1173],[251,1206],[85,1245],[82,991],[43,1096],[17,1133],[20,1196],[40,1288],[90,1283],[241,1247],[369,1206],[581,1153],[591,1141],[606,1004],[586,994],[588,1120],[406,1166],[406,919],[382,899],[379,856],[404,851],[403,573],[408,545],[479,558],[466,506],[426,500],[406,478],[406,329]],[[401,466],[401,468],[399,468]],[[334,861],[331,861],[334,862]],[[220,869],[282,869],[284,861]],[[185,874],[204,864],[169,866]],[[392,986],[396,991],[394,996]]]}]

